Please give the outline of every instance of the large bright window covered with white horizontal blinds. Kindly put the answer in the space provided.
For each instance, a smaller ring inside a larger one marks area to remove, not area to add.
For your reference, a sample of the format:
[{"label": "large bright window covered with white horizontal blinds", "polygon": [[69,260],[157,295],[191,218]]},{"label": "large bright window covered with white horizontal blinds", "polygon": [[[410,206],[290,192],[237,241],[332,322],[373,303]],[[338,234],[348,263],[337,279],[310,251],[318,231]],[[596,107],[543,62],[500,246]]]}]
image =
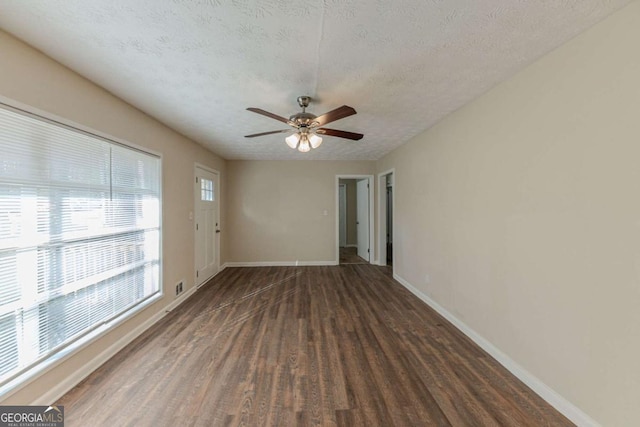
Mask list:
[{"label": "large bright window covered with white horizontal blinds", "polygon": [[0,108],[0,385],[160,293],[160,159]]}]

